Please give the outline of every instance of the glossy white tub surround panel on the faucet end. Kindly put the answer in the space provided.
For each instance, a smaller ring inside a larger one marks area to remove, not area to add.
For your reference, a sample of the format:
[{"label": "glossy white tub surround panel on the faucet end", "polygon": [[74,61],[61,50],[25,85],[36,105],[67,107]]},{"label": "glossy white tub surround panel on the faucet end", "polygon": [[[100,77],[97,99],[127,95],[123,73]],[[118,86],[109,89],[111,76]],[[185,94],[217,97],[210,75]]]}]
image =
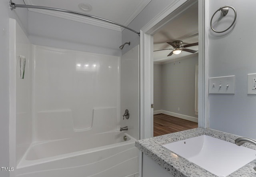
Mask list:
[{"label": "glossy white tub surround panel on the faucet end", "polygon": [[[140,105],[140,82],[139,82],[139,62],[140,46],[136,46],[121,57],[120,67],[120,119],[121,126],[128,126],[127,133],[139,139],[139,105]],[[130,118],[122,118],[128,109]]]}]

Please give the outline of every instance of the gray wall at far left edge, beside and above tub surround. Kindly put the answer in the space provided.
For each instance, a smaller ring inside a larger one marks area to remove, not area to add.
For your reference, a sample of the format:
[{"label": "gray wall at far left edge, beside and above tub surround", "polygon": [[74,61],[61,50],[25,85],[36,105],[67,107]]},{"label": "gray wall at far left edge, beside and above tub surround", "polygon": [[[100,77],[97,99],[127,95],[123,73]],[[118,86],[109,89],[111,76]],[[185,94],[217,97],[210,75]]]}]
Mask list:
[{"label": "gray wall at far left edge, beside and above tub surround", "polygon": [[[20,4],[22,0],[17,1]],[[0,1],[0,167],[9,167],[9,18],[15,18],[27,30],[27,11],[10,10],[9,1]],[[9,172],[0,169],[1,177]]]}]

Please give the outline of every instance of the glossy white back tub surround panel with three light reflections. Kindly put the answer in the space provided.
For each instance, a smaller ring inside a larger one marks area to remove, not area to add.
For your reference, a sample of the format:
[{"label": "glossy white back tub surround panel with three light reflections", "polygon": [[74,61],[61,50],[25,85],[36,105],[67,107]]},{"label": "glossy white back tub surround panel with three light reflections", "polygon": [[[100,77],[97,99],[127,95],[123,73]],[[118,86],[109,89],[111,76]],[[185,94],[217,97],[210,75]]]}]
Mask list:
[{"label": "glossy white back tub surround panel with three light reflections", "polygon": [[117,56],[34,46],[34,141],[116,130]]}]

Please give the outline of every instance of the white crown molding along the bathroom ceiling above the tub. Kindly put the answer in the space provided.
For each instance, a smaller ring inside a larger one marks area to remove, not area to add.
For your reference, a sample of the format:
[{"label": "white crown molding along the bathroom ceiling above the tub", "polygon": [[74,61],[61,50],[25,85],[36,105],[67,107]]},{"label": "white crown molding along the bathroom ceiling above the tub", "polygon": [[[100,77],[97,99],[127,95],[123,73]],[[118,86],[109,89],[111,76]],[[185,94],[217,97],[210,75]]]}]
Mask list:
[{"label": "white crown molding along the bathroom ceiling above the tub", "polygon": [[[146,7],[146,5],[148,5],[148,3],[150,1],[151,0],[143,0],[137,6],[137,8],[130,14],[130,16],[128,16],[128,18],[125,20],[123,25],[128,26],[128,24],[130,24],[130,22],[132,22],[132,20]],[[32,4],[31,0],[24,0],[24,2],[25,2],[25,4],[28,4],[28,5],[34,5],[34,4]],[[79,15],[75,15],[75,14],[68,14],[68,13],[64,13],[64,12],[57,12],[57,11],[43,10],[43,9],[28,8],[28,10],[31,12],[37,12],[40,14],[46,14],[46,15],[55,16],[58,18],[64,18],[67,20],[73,20],[75,22],[90,24],[90,25],[101,27],[101,28],[106,28],[109,30],[115,30],[118,32],[122,32],[122,30],[124,30],[124,28],[117,26],[115,24],[111,24],[108,22],[96,20],[93,18],[85,17],[85,16],[79,16]]]}]

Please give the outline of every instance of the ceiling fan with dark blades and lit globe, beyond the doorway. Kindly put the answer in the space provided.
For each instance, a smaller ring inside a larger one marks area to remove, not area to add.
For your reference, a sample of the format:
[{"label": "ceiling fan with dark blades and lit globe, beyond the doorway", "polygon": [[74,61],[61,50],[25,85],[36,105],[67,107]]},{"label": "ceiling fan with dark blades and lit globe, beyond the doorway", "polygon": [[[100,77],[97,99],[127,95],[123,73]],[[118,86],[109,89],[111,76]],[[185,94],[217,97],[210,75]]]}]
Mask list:
[{"label": "ceiling fan with dark blades and lit globe, beyond the doorway", "polygon": [[[182,51],[190,52],[193,54],[198,52],[198,50],[186,49],[187,47],[198,46],[198,42],[192,43],[192,44],[187,44],[184,46],[182,46],[183,42],[180,40],[174,41],[174,42],[167,42],[167,43],[173,47],[173,49],[162,49],[162,50],[173,50],[168,56],[171,56],[172,54],[180,54]],[[160,51],[160,50],[154,50],[154,52],[156,52],[156,51]]]}]

